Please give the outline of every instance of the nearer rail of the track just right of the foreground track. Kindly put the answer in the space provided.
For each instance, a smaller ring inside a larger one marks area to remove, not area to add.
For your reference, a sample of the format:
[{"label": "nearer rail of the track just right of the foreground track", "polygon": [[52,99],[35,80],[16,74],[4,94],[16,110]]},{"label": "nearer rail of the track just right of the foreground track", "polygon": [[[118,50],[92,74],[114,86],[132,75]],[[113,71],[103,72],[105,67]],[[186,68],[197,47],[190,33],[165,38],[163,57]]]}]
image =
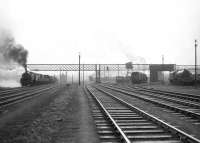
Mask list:
[{"label": "nearer rail of the track just right of the foreground track", "polygon": [[[101,85],[101,86],[103,86],[103,85]],[[138,95],[135,95],[134,93],[130,93],[130,92],[127,92],[127,91],[125,91],[125,90],[120,90],[120,89],[116,89],[116,88],[112,88],[112,87],[107,87],[107,86],[103,86],[103,87],[108,88],[108,89],[111,89],[111,90],[118,91],[118,92],[120,92],[120,93],[129,95],[129,96],[134,96],[134,97],[136,97],[136,98],[138,98],[138,99],[142,99],[142,100],[144,100],[144,101],[151,102],[151,103],[153,103],[153,104],[157,104],[157,105],[162,106],[162,107],[167,107],[167,108],[169,108],[169,109],[171,109],[171,110],[175,110],[175,111],[177,111],[177,112],[181,112],[181,113],[183,113],[183,114],[185,114],[185,115],[190,115],[190,116],[195,117],[195,118],[197,118],[198,120],[200,120],[200,114],[197,114],[197,113],[195,113],[195,112],[183,110],[183,109],[181,109],[181,108],[179,108],[179,107],[170,106],[170,105],[167,105],[167,104],[164,104],[164,103],[161,103],[161,102],[154,101],[154,100],[149,99],[149,98],[140,97],[140,96],[138,96]]]}]

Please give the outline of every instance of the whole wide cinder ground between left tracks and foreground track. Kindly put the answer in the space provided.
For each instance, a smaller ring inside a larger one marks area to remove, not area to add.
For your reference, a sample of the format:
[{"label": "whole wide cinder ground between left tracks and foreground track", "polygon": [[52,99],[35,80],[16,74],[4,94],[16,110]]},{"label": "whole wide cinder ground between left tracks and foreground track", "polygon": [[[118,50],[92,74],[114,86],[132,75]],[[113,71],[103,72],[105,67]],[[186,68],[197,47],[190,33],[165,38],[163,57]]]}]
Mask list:
[{"label": "whole wide cinder ground between left tracks and foreground track", "polygon": [[[40,97],[21,103],[18,114],[0,128],[1,143],[98,143],[86,95],[76,85],[48,100]],[[37,101],[45,105],[37,106]],[[47,104],[46,102],[49,102]],[[31,105],[31,106],[28,106]],[[33,106],[34,105],[34,106]],[[29,108],[28,111],[23,110]],[[9,115],[11,114],[11,115]],[[3,115],[2,115],[3,116]],[[0,118],[1,120],[1,118]],[[2,123],[2,122],[1,122]]]}]

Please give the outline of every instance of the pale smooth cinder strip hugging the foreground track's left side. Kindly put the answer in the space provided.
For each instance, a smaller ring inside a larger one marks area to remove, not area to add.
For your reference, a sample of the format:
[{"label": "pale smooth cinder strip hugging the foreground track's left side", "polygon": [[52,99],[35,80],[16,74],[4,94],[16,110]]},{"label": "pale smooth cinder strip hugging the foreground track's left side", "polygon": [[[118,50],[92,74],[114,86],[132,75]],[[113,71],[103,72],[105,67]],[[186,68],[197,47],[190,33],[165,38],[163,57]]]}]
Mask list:
[{"label": "pale smooth cinder strip hugging the foreground track's left side", "polygon": [[66,122],[54,138],[56,143],[98,143],[95,125],[88,100],[81,87],[71,91],[71,110],[66,112]]}]

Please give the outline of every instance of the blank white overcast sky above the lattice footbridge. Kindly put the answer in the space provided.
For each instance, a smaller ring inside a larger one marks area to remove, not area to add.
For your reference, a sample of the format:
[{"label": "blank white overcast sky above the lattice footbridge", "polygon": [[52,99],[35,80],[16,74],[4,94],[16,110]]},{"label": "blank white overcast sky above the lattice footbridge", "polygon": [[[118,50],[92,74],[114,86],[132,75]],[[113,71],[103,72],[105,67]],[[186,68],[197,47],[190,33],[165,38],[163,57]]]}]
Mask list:
[{"label": "blank white overcast sky above the lattice footbridge", "polygon": [[0,23],[28,63],[194,64],[200,0],[0,0]]}]

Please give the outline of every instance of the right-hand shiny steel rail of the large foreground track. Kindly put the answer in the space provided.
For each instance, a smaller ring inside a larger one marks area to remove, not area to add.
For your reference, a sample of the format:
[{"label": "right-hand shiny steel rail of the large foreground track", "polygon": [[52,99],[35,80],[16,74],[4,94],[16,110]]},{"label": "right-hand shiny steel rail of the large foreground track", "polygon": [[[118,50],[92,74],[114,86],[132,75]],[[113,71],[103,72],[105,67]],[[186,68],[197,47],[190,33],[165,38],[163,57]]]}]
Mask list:
[{"label": "right-hand shiny steel rail of the large foreground track", "polygon": [[120,98],[118,98],[118,97],[115,97],[113,94],[111,94],[111,93],[109,93],[109,92],[107,92],[107,91],[104,91],[104,90],[102,90],[102,89],[100,89],[100,88],[98,88],[98,87],[95,87],[95,88],[96,88],[97,90],[99,90],[99,91],[101,91],[101,92],[103,92],[103,93],[109,95],[109,96],[112,97],[113,99],[115,99],[115,100],[121,102],[122,104],[126,105],[127,107],[129,107],[129,108],[131,108],[131,109],[137,111],[139,114],[142,114],[142,115],[144,115],[145,117],[147,117],[148,119],[150,119],[150,120],[156,122],[157,124],[161,125],[161,126],[164,127],[165,129],[171,131],[171,133],[174,133],[174,134],[178,135],[181,141],[183,141],[183,142],[191,142],[191,143],[200,143],[200,140],[199,140],[199,139],[197,139],[197,138],[195,138],[195,137],[193,137],[193,136],[191,136],[191,135],[189,135],[189,134],[183,132],[182,130],[177,129],[176,127],[174,127],[174,126],[172,126],[172,125],[170,125],[170,124],[168,124],[168,123],[166,123],[166,122],[164,122],[164,121],[158,119],[157,117],[155,117],[155,116],[153,116],[153,115],[151,115],[151,114],[149,114],[149,113],[147,113],[147,112],[145,112],[145,111],[143,111],[143,110],[141,110],[141,109],[139,109],[139,108],[137,108],[137,107],[135,107],[135,106],[133,106],[133,105],[127,103],[127,102],[125,102],[124,100],[122,100],[122,99],[120,99]]}]

